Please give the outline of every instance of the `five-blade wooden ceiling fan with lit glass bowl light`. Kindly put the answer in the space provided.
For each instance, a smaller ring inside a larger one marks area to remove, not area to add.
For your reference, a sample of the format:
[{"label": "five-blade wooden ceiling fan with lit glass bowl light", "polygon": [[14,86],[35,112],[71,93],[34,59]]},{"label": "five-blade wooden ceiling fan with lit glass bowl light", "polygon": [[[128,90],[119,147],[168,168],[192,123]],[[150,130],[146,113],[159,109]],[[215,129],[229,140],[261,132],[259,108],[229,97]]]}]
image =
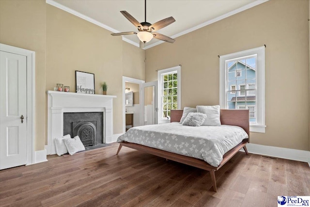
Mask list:
[{"label": "five-blade wooden ceiling fan with lit glass bowl light", "polygon": [[143,43],[147,43],[151,41],[154,38],[169,42],[169,43],[174,43],[174,39],[171,37],[168,37],[166,35],[157,33],[155,31],[162,29],[171,23],[175,22],[175,19],[170,16],[168,18],[162,19],[154,24],[151,24],[146,21],[146,0],[144,1],[145,6],[144,6],[144,14],[145,14],[145,20],[144,22],[139,23],[137,19],[135,19],[133,16],[131,16],[128,12],[126,11],[121,11],[121,13],[133,24],[137,27],[139,32],[119,32],[119,33],[112,33],[112,36],[118,36],[118,35],[128,35],[128,34],[137,34],[138,38],[140,39],[140,48],[143,48]]}]

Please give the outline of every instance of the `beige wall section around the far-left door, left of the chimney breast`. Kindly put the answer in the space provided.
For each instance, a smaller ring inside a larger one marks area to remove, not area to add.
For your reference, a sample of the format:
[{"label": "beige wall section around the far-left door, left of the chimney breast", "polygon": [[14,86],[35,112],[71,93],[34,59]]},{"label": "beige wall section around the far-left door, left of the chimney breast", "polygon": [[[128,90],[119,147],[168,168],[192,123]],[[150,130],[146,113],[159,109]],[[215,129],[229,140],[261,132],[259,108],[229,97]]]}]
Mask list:
[{"label": "beige wall section around the far-left door, left of the chimney breast", "polygon": [[46,3],[0,0],[0,43],[35,51],[35,150],[45,144]]}]

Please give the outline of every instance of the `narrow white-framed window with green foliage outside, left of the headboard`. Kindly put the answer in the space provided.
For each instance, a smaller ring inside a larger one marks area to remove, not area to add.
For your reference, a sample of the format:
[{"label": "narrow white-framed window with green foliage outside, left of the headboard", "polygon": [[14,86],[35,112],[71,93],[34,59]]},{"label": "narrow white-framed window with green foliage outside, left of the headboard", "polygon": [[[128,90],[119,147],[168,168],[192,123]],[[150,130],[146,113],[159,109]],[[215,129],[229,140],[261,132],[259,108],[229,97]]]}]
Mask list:
[{"label": "narrow white-framed window with green foliage outside, left of the headboard", "polygon": [[181,107],[181,66],[158,71],[158,117],[167,119],[170,110]]}]

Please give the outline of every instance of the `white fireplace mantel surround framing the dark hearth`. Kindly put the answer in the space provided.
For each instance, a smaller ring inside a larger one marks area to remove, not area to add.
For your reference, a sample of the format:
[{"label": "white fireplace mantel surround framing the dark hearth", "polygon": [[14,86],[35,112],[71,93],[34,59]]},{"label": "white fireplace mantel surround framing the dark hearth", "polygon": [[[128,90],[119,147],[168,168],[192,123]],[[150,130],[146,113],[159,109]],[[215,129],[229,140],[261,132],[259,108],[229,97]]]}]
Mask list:
[{"label": "white fireplace mantel surround framing the dark hearth", "polygon": [[47,155],[56,154],[56,137],[63,136],[63,113],[103,112],[106,143],[113,135],[113,98],[116,96],[47,91]]}]

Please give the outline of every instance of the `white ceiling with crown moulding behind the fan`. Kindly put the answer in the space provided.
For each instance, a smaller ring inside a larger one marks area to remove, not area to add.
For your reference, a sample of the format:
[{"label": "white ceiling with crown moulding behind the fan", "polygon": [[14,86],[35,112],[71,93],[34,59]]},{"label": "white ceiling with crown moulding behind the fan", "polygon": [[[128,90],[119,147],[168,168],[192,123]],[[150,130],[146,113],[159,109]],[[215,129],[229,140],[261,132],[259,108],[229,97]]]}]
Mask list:
[{"label": "white ceiling with crown moulding behind the fan", "polygon": [[[153,24],[173,16],[176,20],[174,23],[156,32],[176,38],[265,1],[147,0],[146,21]],[[138,31],[120,11],[127,11],[139,22],[144,22],[144,0],[47,0],[47,3],[89,20],[111,33]],[[139,39],[135,34],[124,35],[123,40],[139,47]],[[160,43],[163,41],[153,38],[146,48]]]}]

